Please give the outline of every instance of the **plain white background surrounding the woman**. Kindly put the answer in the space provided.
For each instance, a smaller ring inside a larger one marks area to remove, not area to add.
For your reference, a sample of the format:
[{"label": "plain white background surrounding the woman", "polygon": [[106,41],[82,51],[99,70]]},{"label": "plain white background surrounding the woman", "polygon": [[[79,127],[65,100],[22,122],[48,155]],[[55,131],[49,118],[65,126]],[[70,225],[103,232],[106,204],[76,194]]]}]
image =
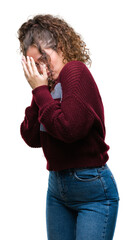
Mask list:
[{"label": "plain white background surrounding the woman", "polygon": [[137,1],[4,1],[0,10],[0,239],[47,239],[46,160],[42,149],[28,147],[20,136],[32,90],[23,75],[17,30],[40,13],[63,17],[91,51],[90,70],[105,108],[108,165],[121,199],[114,239],[138,239]]}]

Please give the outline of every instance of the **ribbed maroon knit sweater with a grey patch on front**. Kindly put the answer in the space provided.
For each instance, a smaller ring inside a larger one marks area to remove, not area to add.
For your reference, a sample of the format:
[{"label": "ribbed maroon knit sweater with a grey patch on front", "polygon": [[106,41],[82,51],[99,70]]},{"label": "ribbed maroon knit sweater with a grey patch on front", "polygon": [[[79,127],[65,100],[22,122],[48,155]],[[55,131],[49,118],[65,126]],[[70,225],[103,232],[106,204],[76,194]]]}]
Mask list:
[{"label": "ribbed maroon knit sweater with a grey patch on front", "polygon": [[107,162],[102,99],[84,63],[67,63],[51,93],[43,85],[32,94],[20,131],[30,147],[42,147],[49,171]]}]

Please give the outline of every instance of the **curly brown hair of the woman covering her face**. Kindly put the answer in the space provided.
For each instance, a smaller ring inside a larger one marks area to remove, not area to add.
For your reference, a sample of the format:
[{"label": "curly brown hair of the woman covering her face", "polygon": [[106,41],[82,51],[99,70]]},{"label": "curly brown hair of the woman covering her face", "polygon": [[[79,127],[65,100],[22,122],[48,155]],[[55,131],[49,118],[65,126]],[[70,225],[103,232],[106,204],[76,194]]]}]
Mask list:
[{"label": "curly brown hair of the woman covering her face", "polygon": [[[21,25],[18,39],[20,51],[25,56],[29,46],[35,45],[47,64],[48,56],[44,48],[52,48],[57,52],[61,50],[63,62],[76,60],[91,66],[89,49],[86,48],[85,42],[64,19],[59,17],[50,14],[34,16]],[[51,86],[54,84],[52,79],[49,82]]]}]

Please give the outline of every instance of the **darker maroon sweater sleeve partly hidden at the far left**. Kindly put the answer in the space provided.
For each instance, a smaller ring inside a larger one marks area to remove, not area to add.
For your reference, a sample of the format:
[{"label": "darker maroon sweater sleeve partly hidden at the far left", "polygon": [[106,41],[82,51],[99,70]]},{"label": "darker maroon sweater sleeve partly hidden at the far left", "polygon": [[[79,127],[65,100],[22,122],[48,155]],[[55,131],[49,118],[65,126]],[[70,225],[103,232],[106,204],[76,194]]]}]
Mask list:
[{"label": "darker maroon sweater sleeve partly hidden at the far left", "polygon": [[34,98],[32,98],[31,105],[25,109],[25,117],[20,126],[20,133],[28,146],[41,147],[38,106],[36,105]]}]

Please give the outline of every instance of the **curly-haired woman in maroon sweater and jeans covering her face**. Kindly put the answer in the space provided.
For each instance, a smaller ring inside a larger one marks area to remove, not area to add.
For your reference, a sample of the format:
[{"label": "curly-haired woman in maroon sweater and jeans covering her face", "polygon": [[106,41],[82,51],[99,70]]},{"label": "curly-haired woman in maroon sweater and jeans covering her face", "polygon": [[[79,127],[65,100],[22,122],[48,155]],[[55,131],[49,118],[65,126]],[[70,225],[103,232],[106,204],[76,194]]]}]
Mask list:
[{"label": "curly-haired woman in maroon sweater and jeans covering her face", "polygon": [[107,166],[104,108],[86,44],[63,19],[36,15],[18,30],[32,88],[21,136],[42,147],[49,171],[49,240],[111,240],[118,191]]}]

